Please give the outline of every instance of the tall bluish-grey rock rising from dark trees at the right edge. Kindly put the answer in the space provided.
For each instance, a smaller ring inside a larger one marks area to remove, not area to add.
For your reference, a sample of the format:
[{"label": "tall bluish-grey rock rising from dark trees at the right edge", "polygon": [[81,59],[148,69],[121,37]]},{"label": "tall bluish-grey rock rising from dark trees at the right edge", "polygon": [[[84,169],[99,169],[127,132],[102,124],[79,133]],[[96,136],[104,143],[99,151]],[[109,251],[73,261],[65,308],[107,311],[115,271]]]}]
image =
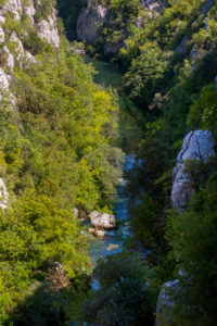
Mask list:
[{"label": "tall bluish-grey rock rising from dark trees at the right edge", "polygon": [[177,164],[174,168],[174,183],[171,189],[171,204],[174,209],[184,210],[193,192],[192,179],[184,173],[184,161],[203,160],[215,155],[215,140],[212,133],[206,130],[191,131],[183,140]]}]

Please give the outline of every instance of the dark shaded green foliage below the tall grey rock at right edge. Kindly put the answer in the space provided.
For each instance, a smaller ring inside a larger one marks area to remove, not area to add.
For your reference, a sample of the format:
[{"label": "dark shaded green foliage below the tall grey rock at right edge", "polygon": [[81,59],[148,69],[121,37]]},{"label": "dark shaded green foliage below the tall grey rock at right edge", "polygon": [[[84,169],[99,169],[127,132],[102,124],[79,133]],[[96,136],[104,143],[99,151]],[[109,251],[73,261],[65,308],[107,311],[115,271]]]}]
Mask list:
[{"label": "dark shaded green foliage below the tall grey rock at right edge", "polygon": [[[216,179],[196,192],[184,213],[174,212],[167,222],[167,237],[187,275],[177,298],[177,324],[213,325],[216,321]],[[188,309],[186,309],[188,306]]]}]

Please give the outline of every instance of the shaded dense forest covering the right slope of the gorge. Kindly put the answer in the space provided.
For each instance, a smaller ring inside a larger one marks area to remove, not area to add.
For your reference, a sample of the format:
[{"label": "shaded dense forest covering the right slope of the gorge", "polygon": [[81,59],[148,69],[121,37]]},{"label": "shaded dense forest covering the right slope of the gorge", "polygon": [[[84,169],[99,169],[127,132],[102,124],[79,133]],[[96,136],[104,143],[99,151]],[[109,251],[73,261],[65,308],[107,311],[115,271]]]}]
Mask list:
[{"label": "shaded dense forest covering the right slope of the gorge", "polygon": [[[87,51],[103,58],[105,43],[123,45],[110,60],[123,71],[128,110],[143,129],[137,153],[142,164],[128,174],[131,238],[126,248],[148,250],[143,273],[153,293],[164,281],[179,278],[184,293],[177,298],[168,325],[215,325],[215,158],[189,165],[197,191],[186,212],[170,210],[170,191],[173,167],[187,133],[208,129],[217,137],[216,1],[171,0],[154,16],[139,1],[98,3],[110,10],[110,20]],[[188,277],[180,277],[180,269]],[[191,283],[189,275],[193,275]],[[101,300],[98,304],[105,299]],[[150,306],[149,312],[154,310]],[[120,325],[141,325],[133,317]]]}]

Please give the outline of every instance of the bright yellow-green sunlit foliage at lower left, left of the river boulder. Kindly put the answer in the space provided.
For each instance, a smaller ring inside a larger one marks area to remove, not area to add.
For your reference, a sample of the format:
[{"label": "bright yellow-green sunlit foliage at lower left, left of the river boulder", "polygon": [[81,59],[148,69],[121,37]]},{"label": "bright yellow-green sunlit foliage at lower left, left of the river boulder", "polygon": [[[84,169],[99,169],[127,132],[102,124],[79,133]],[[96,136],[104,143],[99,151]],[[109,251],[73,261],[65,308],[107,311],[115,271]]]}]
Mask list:
[{"label": "bright yellow-green sunlit foliage at lower left, left of the river boulder", "polygon": [[88,271],[86,243],[76,220],[46,196],[34,192],[0,212],[1,322],[24,299],[29,285],[43,280],[49,265],[59,261],[65,276],[74,279]]}]

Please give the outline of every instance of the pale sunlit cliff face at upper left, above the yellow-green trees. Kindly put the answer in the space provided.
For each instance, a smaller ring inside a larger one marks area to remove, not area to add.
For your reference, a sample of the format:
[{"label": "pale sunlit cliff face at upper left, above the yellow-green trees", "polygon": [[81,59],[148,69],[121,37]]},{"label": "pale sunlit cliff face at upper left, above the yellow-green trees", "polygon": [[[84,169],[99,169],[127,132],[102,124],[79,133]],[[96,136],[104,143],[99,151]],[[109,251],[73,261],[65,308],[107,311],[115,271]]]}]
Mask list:
[{"label": "pale sunlit cliff face at upper left, above the yellow-green trees", "polygon": [[[47,10],[47,11],[46,11]],[[46,11],[46,13],[44,13]],[[58,48],[60,37],[55,9],[44,8],[39,0],[8,0],[0,5],[0,100],[14,110],[16,99],[12,93],[13,72],[16,65],[37,64],[29,49],[31,37]],[[1,168],[2,170],[2,168]],[[5,209],[9,193],[0,178],[0,208]]]}]

